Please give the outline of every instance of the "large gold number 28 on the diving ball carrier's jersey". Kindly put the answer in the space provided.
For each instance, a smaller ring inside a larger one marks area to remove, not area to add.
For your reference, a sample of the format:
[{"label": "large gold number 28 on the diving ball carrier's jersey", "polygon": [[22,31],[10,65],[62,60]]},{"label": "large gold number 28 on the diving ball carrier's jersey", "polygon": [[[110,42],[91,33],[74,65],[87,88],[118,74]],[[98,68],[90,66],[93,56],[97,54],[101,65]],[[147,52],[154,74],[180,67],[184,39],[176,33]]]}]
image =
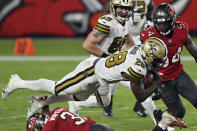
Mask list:
[{"label": "large gold number 28 on the diving ball carrier's jersey", "polygon": [[126,59],[127,51],[120,52],[118,54],[113,54],[105,61],[105,66],[107,68],[113,67],[123,63]]}]

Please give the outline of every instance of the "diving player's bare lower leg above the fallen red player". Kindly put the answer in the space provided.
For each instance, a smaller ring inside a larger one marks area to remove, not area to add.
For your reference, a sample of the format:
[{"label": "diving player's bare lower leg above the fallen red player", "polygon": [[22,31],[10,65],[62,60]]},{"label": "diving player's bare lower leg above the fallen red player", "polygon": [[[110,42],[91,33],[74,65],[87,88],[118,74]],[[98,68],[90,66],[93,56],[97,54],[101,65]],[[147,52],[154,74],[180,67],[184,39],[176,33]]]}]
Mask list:
[{"label": "diving player's bare lower leg above the fallen red player", "polygon": [[59,102],[65,102],[65,101],[74,101],[73,95],[62,95],[62,96],[52,95],[52,96],[49,96],[44,101],[44,105],[49,105],[49,104],[59,103]]}]

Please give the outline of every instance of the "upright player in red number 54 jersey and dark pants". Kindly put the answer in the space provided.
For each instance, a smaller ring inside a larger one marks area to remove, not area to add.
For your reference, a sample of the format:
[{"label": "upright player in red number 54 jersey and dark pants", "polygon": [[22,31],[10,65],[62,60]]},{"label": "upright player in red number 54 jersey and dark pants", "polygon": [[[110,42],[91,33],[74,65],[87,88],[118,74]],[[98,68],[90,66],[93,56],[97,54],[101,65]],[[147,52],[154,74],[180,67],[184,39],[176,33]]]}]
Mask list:
[{"label": "upright player in red number 54 jersey and dark pants", "polygon": [[185,108],[179,94],[197,108],[197,86],[183,69],[180,53],[185,46],[197,62],[197,46],[189,35],[187,24],[176,21],[175,11],[170,4],[163,3],[156,8],[153,22],[154,26],[141,31],[140,39],[143,42],[149,37],[156,37],[166,44],[168,55],[164,68],[158,70],[162,79],[159,90],[168,110],[176,117],[183,118]]}]

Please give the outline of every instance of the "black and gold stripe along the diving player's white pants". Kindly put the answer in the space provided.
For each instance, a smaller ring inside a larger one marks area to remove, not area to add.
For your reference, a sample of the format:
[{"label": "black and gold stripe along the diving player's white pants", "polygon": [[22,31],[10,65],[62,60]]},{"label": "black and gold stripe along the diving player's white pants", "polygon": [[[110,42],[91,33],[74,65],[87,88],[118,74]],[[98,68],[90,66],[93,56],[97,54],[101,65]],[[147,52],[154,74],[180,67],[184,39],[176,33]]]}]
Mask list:
[{"label": "black and gold stripe along the diving player's white pants", "polygon": [[64,80],[63,82],[59,83],[55,86],[55,94],[58,95],[61,91],[78,84],[80,81],[84,80],[85,78],[92,76],[94,74],[94,66],[87,68],[84,71],[79,72],[75,76]]}]

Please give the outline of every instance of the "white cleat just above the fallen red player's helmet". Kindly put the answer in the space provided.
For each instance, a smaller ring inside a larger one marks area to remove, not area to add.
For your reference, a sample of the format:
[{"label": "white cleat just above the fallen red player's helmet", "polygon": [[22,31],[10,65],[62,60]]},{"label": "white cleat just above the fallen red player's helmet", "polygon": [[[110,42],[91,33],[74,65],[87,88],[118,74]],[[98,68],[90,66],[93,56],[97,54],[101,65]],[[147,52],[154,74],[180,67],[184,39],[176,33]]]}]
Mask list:
[{"label": "white cleat just above the fallen red player's helmet", "polygon": [[44,102],[37,96],[31,96],[29,100],[30,108],[28,108],[27,119],[35,114],[39,109],[44,106]]}]

